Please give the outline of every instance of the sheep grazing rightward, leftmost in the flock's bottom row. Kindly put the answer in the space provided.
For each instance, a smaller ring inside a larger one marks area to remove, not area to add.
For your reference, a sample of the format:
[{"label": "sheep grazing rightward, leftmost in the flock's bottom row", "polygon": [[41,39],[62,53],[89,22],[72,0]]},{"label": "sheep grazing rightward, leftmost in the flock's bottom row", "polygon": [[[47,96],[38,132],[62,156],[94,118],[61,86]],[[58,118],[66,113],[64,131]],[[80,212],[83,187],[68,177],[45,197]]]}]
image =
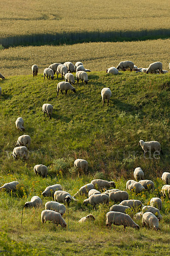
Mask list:
[{"label": "sheep grazing rightward, leftmost in the flock's bottom row", "polygon": [[59,212],[54,212],[51,210],[44,210],[41,212],[41,221],[45,223],[46,221],[52,221],[54,224],[61,225],[61,227],[67,227],[65,220],[62,218]]}]

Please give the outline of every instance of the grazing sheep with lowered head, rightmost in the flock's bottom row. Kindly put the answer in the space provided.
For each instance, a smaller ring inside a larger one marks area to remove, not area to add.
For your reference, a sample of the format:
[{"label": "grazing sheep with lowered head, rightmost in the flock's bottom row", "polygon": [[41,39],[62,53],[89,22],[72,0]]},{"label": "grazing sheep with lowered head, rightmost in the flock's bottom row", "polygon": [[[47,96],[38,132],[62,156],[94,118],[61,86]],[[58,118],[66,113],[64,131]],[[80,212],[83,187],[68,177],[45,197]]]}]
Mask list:
[{"label": "grazing sheep with lowered head, rightmost in the flock's bottom row", "polygon": [[142,225],[158,230],[159,220],[152,212],[145,212],[142,216]]}]

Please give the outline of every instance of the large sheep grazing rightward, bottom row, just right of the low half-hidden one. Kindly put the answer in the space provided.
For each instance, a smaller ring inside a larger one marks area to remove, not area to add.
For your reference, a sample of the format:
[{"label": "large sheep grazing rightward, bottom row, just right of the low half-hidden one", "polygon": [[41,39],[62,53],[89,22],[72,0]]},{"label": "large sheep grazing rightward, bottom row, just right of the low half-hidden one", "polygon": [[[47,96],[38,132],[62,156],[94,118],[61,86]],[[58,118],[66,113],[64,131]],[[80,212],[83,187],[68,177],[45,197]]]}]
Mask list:
[{"label": "large sheep grazing rightward, bottom row, just right of the low half-hidden one", "polygon": [[111,224],[116,226],[133,227],[139,230],[139,226],[130,218],[128,214],[122,212],[107,212],[106,213],[106,226],[111,226]]}]

